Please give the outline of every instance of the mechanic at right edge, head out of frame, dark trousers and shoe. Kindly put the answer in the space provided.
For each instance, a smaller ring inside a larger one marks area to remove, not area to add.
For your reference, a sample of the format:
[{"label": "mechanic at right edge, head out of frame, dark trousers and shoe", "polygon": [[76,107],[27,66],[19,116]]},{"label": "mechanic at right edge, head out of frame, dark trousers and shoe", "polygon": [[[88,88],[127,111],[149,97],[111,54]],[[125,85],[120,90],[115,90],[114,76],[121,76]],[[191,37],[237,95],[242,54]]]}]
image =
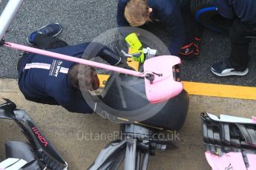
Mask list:
[{"label": "mechanic at right edge, head out of frame, dark trousers and shoe", "polygon": [[218,76],[246,75],[249,72],[249,44],[256,37],[255,0],[214,0],[221,16],[234,19],[230,32],[229,58],[212,65],[211,72]]}]

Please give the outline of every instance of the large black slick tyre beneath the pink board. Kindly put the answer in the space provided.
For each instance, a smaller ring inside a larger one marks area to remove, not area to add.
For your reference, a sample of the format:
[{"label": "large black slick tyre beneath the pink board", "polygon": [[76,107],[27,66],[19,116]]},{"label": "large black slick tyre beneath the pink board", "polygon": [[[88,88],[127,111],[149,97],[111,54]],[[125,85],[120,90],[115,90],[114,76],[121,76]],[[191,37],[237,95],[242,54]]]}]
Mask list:
[{"label": "large black slick tyre beneath the pink board", "polygon": [[144,78],[113,74],[102,94],[97,100],[96,112],[111,113],[108,114],[110,118],[130,120],[125,123],[139,122],[145,126],[174,131],[183,127],[188,114],[188,92],[183,90],[176,97],[162,103],[149,103],[143,97],[146,96]]}]

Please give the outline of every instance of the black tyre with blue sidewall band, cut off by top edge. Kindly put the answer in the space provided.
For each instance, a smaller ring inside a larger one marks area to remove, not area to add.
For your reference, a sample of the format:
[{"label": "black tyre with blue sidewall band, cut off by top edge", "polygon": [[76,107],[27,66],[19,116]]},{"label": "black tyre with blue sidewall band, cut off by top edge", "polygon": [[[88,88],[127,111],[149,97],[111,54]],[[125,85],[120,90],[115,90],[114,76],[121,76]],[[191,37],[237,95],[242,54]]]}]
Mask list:
[{"label": "black tyre with blue sidewall band, cut off by top edge", "polygon": [[191,12],[196,20],[218,33],[229,33],[233,20],[223,18],[218,13],[214,0],[191,0]]}]

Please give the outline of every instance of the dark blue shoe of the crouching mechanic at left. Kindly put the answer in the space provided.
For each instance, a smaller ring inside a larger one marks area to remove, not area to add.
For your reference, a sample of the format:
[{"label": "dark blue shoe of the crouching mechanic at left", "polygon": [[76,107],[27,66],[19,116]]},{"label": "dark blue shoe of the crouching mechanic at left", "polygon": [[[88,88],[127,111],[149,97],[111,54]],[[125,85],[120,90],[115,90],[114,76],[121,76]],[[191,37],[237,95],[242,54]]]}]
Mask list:
[{"label": "dark blue shoe of the crouching mechanic at left", "polygon": [[27,42],[29,44],[33,44],[36,34],[43,34],[43,35],[48,35],[50,37],[55,37],[56,35],[59,35],[59,33],[61,32],[62,32],[61,24],[59,23],[47,24],[44,27],[41,27],[33,31],[33,33],[30,33],[30,35],[27,36]]}]

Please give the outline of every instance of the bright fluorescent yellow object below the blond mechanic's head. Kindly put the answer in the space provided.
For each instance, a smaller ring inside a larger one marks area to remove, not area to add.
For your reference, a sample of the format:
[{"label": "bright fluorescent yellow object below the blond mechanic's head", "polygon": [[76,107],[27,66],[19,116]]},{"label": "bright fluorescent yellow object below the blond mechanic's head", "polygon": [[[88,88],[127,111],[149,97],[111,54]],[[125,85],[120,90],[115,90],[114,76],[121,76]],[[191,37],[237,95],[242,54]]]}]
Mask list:
[{"label": "bright fluorescent yellow object below the blond mechanic's head", "polygon": [[125,37],[125,41],[131,47],[131,53],[136,54],[133,56],[134,61],[139,61],[140,63],[144,63],[145,55],[143,52],[142,43],[140,42],[136,33],[131,33]]}]

